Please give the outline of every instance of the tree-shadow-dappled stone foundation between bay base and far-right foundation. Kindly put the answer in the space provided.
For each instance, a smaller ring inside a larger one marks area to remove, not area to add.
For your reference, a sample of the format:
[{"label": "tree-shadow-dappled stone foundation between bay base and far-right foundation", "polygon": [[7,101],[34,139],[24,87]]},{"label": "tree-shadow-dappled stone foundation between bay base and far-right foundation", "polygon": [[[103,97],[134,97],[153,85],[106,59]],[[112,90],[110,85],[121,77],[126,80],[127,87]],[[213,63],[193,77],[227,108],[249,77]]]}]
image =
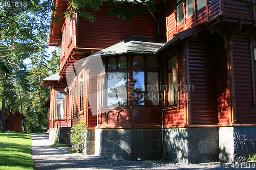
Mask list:
[{"label": "tree-shadow-dappled stone foundation between bay base and far-right foundation", "polygon": [[218,127],[165,129],[164,141],[165,159],[179,163],[219,161]]}]

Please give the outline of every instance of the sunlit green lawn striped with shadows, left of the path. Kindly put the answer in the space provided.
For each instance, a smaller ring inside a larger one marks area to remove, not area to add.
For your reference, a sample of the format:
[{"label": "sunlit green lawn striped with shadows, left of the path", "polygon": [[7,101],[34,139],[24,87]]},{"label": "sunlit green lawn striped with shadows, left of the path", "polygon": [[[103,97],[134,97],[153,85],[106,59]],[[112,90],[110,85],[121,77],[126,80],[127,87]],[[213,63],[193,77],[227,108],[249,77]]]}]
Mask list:
[{"label": "sunlit green lawn striped with shadows, left of the path", "polygon": [[0,169],[35,169],[31,134],[0,132]]}]

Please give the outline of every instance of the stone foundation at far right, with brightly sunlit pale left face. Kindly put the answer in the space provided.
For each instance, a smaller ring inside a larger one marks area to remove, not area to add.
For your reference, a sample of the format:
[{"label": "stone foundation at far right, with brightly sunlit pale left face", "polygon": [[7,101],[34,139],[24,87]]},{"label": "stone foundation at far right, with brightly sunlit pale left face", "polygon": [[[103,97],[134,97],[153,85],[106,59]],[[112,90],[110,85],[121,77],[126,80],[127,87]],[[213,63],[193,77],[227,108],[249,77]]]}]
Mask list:
[{"label": "stone foundation at far right, with brightly sunlit pale left face", "polygon": [[248,156],[256,153],[256,127],[220,127],[220,155],[225,163],[247,161]]}]

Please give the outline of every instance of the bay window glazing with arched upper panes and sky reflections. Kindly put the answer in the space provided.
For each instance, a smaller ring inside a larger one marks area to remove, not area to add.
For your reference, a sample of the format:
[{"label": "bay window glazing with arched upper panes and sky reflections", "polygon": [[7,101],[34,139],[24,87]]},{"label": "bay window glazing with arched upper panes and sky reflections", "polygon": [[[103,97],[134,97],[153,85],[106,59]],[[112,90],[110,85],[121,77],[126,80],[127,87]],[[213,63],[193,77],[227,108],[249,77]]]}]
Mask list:
[{"label": "bay window glazing with arched upper panes and sky reflections", "polygon": [[159,106],[159,65],[154,56],[106,58],[106,71],[98,75],[98,108],[127,107],[128,89],[133,106]]}]

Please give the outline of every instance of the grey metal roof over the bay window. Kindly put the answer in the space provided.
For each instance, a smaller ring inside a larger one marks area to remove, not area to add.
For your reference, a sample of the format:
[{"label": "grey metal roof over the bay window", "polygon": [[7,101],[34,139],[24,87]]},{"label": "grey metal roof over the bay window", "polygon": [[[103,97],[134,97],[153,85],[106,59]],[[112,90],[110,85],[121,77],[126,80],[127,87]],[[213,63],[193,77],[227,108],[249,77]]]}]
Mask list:
[{"label": "grey metal roof over the bay window", "polygon": [[151,55],[154,54],[154,52],[164,44],[165,42],[157,37],[134,35],[110,47],[107,47],[104,50],[94,53],[91,56],[109,56],[127,53]]}]

